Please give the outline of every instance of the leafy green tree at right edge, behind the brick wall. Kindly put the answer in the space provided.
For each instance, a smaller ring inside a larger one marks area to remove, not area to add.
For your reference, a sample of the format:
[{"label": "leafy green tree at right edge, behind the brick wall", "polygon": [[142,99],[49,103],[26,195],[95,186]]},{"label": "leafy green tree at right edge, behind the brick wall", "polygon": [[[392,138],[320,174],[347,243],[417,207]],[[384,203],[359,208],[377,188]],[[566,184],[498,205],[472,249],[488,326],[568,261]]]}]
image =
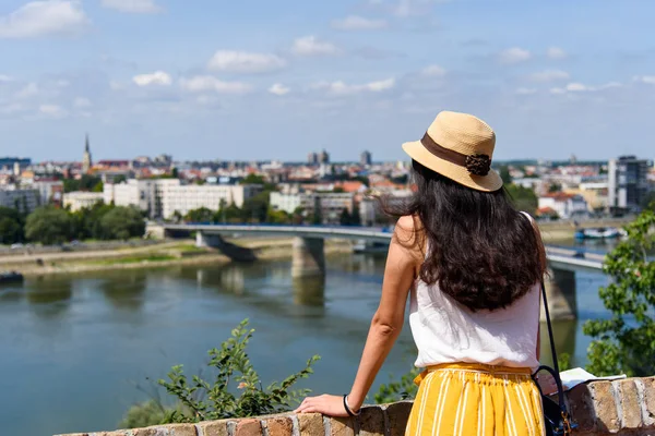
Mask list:
[{"label": "leafy green tree at right edge, behind the brick wall", "polygon": [[655,373],[655,211],[644,210],[626,227],[628,239],[606,257],[610,284],[599,295],[609,319],[587,320],[583,331],[594,338],[587,371],[595,375]]}]

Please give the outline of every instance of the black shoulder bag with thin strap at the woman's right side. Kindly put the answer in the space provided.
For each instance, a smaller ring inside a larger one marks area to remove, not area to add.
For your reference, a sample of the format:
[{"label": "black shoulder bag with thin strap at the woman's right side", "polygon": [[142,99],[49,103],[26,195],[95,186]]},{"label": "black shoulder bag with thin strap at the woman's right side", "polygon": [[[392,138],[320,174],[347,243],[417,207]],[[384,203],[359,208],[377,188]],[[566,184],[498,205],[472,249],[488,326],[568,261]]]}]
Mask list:
[{"label": "black shoulder bag with thin strap at the woman's right side", "polygon": [[[544,407],[544,421],[546,423],[546,435],[547,436],[569,436],[571,429],[577,425],[571,423],[571,415],[564,403],[564,389],[562,387],[562,379],[559,376],[559,364],[557,362],[557,352],[555,351],[555,341],[552,339],[552,326],[550,325],[550,313],[548,311],[548,300],[546,299],[546,288],[544,281],[541,281],[541,298],[544,299],[544,311],[546,313],[546,324],[548,324],[548,338],[550,340],[550,351],[552,353],[552,366],[541,365],[533,374],[533,379],[541,393],[541,404]],[[541,371],[546,371],[552,375],[555,383],[557,384],[557,396],[558,402],[555,402],[550,397],[545,396],[541,392],[541,388],[536,380],[537,374]]]}]

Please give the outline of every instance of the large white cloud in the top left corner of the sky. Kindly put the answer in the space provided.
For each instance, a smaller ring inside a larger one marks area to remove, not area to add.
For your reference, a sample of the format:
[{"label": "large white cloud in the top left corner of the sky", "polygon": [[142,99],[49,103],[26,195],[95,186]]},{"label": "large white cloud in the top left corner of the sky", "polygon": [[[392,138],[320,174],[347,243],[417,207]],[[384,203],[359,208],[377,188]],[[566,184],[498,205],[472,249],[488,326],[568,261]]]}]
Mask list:
[{"label": "large white cloud in the top left corner of the sky", "polygon": [[0,16],[0,38],[71,35],[90,23],[78,0],[33,1]]}]

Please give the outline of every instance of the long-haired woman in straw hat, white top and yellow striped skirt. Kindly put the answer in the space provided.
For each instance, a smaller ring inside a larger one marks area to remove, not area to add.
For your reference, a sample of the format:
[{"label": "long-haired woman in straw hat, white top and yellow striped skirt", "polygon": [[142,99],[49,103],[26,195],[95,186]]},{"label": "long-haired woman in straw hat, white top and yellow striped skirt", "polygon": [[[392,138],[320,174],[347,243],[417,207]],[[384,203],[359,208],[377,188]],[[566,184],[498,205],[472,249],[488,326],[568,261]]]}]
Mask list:
[{"label": "long-haired woman in straw hat, white top and yellow striped skirt", "polygon": [[[297,412],[359,412],[397,338],[410,296],[418,349],[407,435],[541,435],[538,230],[512,206],[490,169],[496,135],[484,121],[441,112],[422,140],[403,145],[416,192],[401,206],[380,306],[350,392],[307,398]],[[544,386],[546,392],[552,386]]]}]

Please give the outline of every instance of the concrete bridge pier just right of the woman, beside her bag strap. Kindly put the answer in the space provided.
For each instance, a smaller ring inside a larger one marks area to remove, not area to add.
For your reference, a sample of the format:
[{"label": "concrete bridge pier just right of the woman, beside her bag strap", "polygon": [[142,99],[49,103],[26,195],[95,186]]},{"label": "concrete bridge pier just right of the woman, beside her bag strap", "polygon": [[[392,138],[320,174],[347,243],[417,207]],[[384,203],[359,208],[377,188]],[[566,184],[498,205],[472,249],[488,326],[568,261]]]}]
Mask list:
[{"label": "concrete bridge pier just right of the woman, beside her bag strap", "polygon": [[[567,269],[549,268],[544,284],[548,298],[550,319],[575,319],[577,315],[575,272]],[[546,313],[543,307],[541,320],[546,320]]]}]

